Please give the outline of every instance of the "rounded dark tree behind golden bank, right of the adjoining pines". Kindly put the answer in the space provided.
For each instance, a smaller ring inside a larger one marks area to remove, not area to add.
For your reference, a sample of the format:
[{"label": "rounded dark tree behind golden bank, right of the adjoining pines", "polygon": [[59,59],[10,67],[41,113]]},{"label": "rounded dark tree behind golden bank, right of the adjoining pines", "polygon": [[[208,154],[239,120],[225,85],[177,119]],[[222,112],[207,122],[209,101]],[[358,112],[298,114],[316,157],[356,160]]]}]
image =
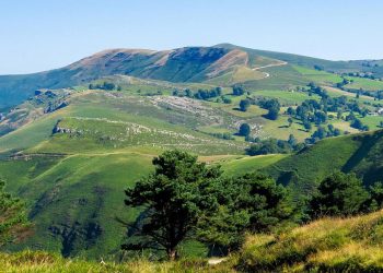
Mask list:
[{"label": "rounded dark tree behind golden bank, right of the adjoining pines", "polygon": [[310,200],[310,215],[348,216],[360,213],[369,193],[355,174],[335,171],[326,177]]}]

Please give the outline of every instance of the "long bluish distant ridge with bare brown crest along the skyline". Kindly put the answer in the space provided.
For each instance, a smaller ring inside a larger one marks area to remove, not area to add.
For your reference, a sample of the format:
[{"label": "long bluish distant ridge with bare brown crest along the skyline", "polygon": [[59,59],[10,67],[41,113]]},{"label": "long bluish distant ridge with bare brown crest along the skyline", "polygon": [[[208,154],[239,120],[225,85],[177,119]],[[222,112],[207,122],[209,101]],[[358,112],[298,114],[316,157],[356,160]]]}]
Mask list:
[{"label": "long bluish distant ridge with bare brown crest along the skyline", "polygon": [[[114,74],[170,82],[208,81],[220,85],[252,82],[251,86],[258,88],[285,88],[291,84],[306,83],[291,66],[311,69],[317,66],[333,72],[368,71],[382,76],[381,67],[365,67],[363,63],[365,62],[327,61],[228,44],[164,51],[111,49],[56,70],[25,75],[1,75],[0,107],[18,105],[38,88],[81,85]],[[282,68],[282,64],[288,66]],[[274,79],[265,85],[263,79],[270,80],[271,73],[275,74]]]}]

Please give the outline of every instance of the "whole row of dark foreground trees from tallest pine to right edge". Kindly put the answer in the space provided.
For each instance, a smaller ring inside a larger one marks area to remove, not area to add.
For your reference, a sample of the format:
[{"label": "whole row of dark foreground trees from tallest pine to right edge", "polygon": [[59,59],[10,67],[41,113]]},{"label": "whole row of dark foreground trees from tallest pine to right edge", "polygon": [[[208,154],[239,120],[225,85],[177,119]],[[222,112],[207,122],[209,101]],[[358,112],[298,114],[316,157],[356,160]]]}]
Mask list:
[{"label": "whole row of dark foreground trees from tallest pine to right edge", "polygon": [[153,174],[125,191],[126,205],[143,212],[123,248],[162,249],[171,260],[187,239],[230,251],[241,246],[246,232],[270,232],[287,223],[355,215],[383,205],[383,185],[365,189],[353,174],[329,175],[312,198],[297,204],[270,177],[256,173],[223,177],[219,166],[208,167],[186,152],[164,152],[153,165]]}]

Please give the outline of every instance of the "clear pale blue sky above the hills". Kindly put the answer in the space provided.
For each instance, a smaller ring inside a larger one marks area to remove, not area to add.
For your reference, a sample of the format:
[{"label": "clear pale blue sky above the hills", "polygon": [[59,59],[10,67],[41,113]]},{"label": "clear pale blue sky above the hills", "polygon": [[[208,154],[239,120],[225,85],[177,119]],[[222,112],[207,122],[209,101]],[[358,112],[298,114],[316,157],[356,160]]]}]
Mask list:
[{"label": "clear pale blue sky above the hills", "polygon": [[231,43],[333,60],[383,59],[382,0],[1,0],[0,74],[107,48]]}]

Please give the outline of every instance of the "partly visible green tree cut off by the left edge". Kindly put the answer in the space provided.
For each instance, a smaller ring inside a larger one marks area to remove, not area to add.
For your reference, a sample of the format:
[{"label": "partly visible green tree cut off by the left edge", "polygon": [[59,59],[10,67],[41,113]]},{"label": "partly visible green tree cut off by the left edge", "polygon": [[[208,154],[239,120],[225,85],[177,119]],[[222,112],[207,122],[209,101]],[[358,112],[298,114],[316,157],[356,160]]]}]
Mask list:
[{"label": "partly visible green tree cut off by the left edge", "polygon": [[0,247],[23,239],[30,232],[24,203],[4,191],[0,179]]}]

